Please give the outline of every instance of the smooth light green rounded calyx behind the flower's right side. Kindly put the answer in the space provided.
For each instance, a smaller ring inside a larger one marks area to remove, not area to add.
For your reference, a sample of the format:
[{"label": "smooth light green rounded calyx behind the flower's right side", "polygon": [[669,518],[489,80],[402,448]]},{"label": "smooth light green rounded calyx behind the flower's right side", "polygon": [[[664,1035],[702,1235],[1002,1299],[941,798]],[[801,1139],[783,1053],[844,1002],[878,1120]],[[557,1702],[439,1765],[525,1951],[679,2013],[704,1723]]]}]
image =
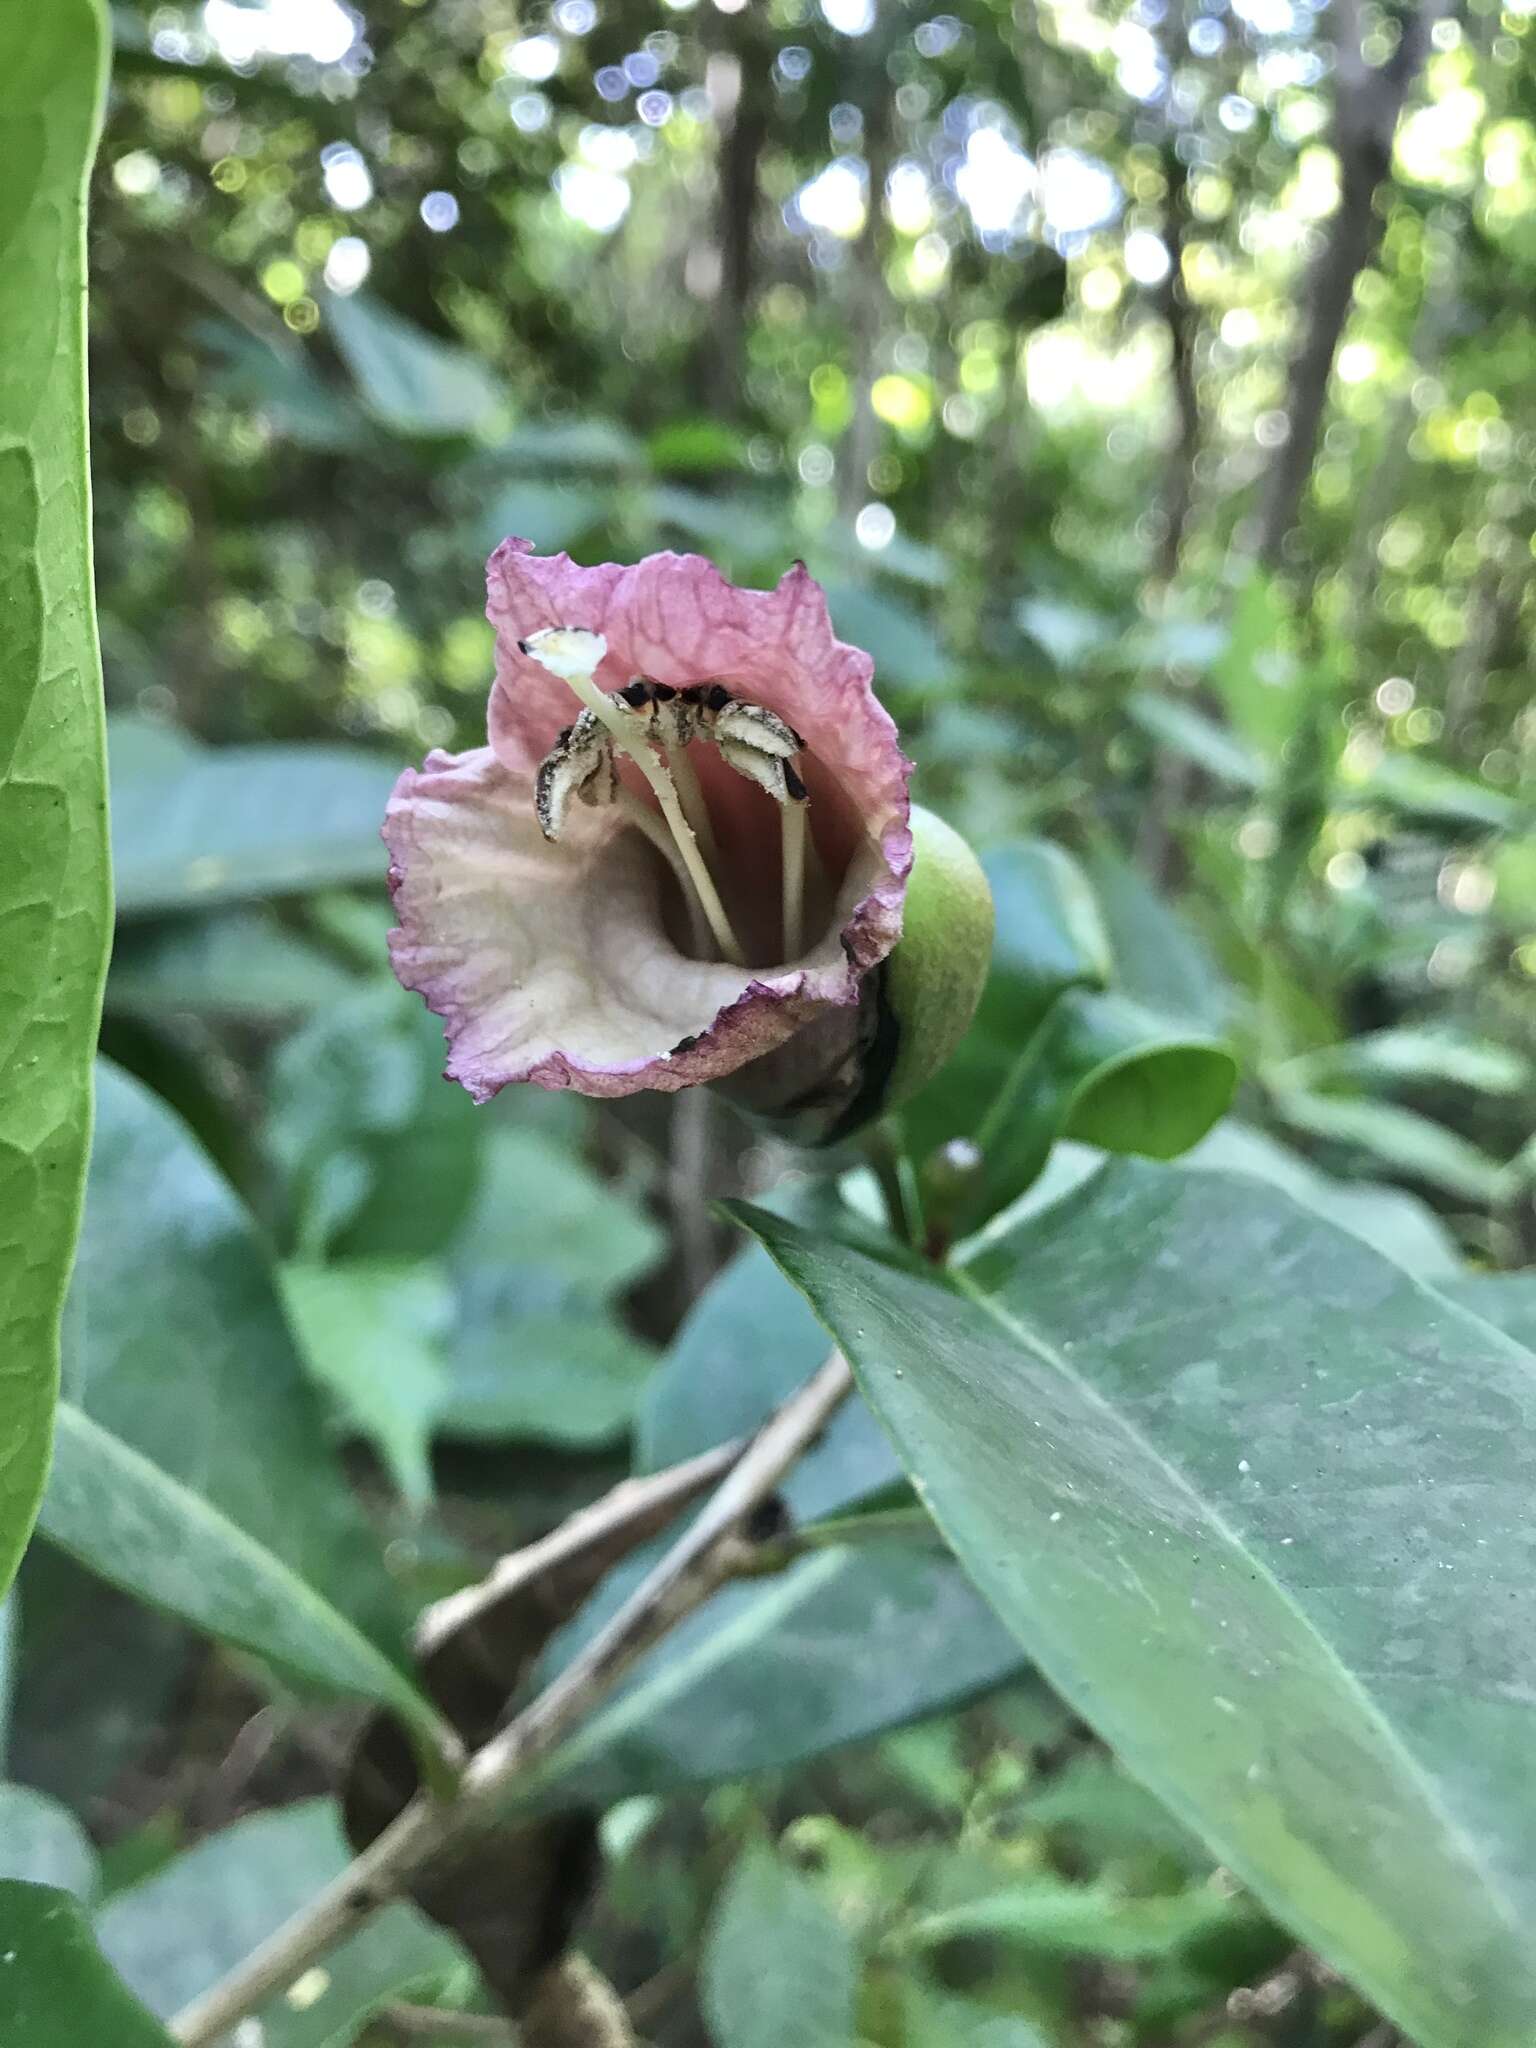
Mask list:
[{"label": "smooth light green rounded calyx behind the flower's right side", "polygon": [[932,1081],[965,1038],[991,967],[993,907],[981,862],[942,817],[911,807],[911,877],[881,1001],[895,1057],[881,1110]]}]

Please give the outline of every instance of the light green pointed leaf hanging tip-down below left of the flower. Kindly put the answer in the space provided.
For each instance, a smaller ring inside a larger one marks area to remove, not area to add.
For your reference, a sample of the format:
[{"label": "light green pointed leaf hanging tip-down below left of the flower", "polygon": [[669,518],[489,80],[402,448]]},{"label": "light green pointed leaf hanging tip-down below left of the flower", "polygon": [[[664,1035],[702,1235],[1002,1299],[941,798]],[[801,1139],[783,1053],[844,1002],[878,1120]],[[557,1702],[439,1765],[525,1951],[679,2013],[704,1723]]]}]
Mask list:
[{"label": "light green pointed leaf hanging tip-down below left of the flower", "polygon": [[369,1438],[412,1507],[432,1499],[428,1444],[449,1395],[453,1288],[434,1260],[342,1260],[279,1270],[315,1380]]}]

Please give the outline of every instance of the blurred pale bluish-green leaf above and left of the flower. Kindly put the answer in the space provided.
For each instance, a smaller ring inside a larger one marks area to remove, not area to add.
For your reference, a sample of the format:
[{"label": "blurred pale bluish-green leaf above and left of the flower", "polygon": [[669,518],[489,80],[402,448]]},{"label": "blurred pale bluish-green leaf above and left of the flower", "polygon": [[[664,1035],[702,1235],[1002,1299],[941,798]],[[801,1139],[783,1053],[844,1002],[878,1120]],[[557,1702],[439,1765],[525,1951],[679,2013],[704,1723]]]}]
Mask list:
[{"label": "blurred pale bluish-green leaf above and left of the flower", "polygon": [[506,414],[506,391],[479,356],[438,340],[369,293],[330,295],[326,328],[362,406],[391,434],[475,434]]}]

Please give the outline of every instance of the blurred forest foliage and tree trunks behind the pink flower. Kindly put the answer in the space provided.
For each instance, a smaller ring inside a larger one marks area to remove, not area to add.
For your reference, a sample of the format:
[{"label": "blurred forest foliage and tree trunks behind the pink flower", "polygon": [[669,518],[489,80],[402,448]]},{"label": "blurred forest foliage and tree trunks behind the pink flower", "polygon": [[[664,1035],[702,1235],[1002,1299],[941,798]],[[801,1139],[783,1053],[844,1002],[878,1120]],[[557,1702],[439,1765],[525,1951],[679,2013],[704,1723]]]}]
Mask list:
[{"label": "blurred forest foliage and tree trunks behind the pink flower", "polygon": [[[1108,1147],[1278,1182],[1423,1278],[1528,1264],[1534,18],[119,4],[92,406],[127,1073],[88,1413],[377,1632],[821,1356],[709,1206],[813,1208],[805,1161],[692,1096],[475,1112],[383,971],[383,799],[483,739],[506,532],[803,557],[872,651],[999,905],[907,1114],[954,1231]],[[791,1485],[809,1520],[903,1501],[860,1413]],[[344,1726],[61,1550],[18,1612],[14,1827],[168,2009],[168,1915],[203,1913],[209,1974],[336,1866],[330,1810],[285,1802]],[[1393,2040],[942,1554],[829,1548],[707,1620],[584,1761],[588,1946],[645,2038]],[[272,2048],[473,2005],[426,1923],[344,1954]]]}]

